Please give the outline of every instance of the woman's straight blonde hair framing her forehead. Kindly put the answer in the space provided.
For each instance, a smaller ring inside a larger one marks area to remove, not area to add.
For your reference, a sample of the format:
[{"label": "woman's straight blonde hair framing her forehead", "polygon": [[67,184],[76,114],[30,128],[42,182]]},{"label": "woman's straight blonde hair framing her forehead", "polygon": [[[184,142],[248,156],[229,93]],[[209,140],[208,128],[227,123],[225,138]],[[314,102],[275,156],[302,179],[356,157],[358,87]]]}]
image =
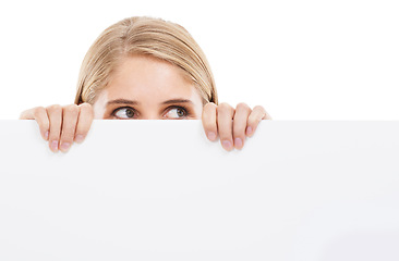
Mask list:
[{"label": "woman's straight blonde hair framing her forehead", "polygon": [[182,26],[152,17],[124,18],[101,33],[87,51],[78,75],[75,103],[94,103],[121,60],[145,54],[182,69],[206,102],[218,103],[215,80],[204,52]]}]

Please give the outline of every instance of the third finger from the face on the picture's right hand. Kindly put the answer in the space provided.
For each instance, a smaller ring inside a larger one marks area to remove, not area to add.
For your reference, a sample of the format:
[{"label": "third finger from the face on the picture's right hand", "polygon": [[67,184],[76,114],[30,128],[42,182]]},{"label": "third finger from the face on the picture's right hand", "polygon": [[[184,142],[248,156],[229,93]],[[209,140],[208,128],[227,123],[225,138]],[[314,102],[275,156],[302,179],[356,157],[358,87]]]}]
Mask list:
[{"label": "third finger from the face on the picture's right hand", "polygon": [[251,108],[245,103],[239,103],[233,119],[233,139],[235,149],[242,149],[245,141],[245,129]]}]

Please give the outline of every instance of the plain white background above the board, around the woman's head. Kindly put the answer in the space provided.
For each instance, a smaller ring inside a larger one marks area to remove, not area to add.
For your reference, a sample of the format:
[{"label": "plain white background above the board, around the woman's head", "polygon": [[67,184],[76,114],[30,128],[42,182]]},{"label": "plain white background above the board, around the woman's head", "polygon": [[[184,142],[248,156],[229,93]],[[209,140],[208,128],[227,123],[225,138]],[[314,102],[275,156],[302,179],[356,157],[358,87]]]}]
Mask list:
[{"label": "plain white background above the board, around the woman's head", "polygon": [[398,13],[397,0],[2,1],[0,119],[72,103],[95,38],[149,15],[193,35],[220,101],[275,120],[399,120]]}]

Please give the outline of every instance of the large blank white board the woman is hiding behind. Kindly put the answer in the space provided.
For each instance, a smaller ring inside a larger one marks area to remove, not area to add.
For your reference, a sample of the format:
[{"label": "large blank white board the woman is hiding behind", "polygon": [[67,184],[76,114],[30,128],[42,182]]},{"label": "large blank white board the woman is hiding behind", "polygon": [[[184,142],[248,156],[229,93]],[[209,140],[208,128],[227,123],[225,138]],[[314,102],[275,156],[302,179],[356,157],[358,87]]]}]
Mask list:
[{"label": "large blank white board the woman is hiding behind", "polygon": [[0,121],[0,260],[399,260],[399,122],[95,121],[52,153]]}]

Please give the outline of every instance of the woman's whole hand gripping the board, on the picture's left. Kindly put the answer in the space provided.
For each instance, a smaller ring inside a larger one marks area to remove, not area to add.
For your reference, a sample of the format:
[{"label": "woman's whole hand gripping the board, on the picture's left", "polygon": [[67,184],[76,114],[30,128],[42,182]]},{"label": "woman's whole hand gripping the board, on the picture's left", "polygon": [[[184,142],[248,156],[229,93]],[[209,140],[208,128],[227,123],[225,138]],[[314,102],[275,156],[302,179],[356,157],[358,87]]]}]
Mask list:
[{"label": "woman's whole hand gripping the board, on the picture's left", "polygon": [[73,141],[82,142],[93,122],[94,112],[89,103],[80,105],[36,107],[21,113],[20,120],[35,120],[41,137],[48,140],[50,150],[66,152]]}]

